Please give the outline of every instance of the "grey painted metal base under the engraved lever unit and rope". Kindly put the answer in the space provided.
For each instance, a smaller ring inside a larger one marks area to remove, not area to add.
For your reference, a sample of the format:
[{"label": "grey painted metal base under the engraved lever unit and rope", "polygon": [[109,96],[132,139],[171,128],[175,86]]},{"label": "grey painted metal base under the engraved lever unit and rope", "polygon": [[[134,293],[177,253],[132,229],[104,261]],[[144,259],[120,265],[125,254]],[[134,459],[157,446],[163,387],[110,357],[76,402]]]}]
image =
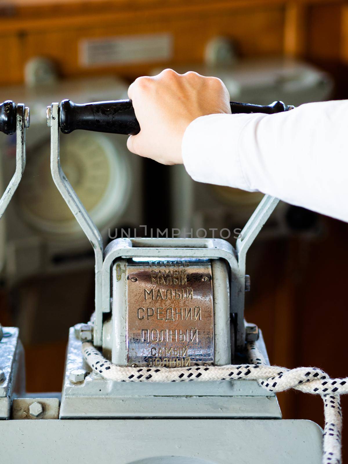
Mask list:
[{"label": "grey painted metal base under the engraved lever unit and rope", "polygon": [[[258,346],[267,358],[262,335]],[[72,383],[73,369],[86,369],[81,342],[70,329],[60,419],[264,418],[281,419],[277,397],[255,380],[212,382],[114,382],[89,374]]]}]

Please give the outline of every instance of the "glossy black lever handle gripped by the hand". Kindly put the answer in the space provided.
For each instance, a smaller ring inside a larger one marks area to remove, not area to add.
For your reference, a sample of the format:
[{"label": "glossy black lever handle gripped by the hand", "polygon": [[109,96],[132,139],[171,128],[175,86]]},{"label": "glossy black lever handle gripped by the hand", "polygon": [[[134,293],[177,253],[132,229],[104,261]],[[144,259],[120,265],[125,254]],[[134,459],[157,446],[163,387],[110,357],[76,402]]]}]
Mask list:
[{"label": "glossy black lever handle gripped by the hand", "polygon": [[[265,106],[252,105],[251,103],[230,103],[232,114],[273,114],[290,109],[283,102],[274,102]],[[139,122],[135,117],[131,100],[82,104],[63,100],[60,104],[59,123],[63,134],[70,134],[75,129],[125,135],[135,135],[140,132]]]}]

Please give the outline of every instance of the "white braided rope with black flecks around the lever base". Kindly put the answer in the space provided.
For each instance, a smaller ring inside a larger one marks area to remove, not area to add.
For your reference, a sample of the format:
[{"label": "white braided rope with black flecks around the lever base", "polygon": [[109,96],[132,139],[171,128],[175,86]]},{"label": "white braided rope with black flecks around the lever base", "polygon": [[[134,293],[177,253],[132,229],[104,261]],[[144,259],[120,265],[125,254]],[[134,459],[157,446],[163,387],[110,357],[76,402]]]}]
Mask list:
[{"label": "white braided rope with black flecks around the lever base", "polygon": [[84,359],[93,372],[106,380],[119,382],[187,382],[207,380],[257,380],[270,392],[290,388],[321,395],[324,401],[323,464],[341,463],[342,413],[340,395],[348,393],[348,378],[330,379],[316,367],[268,366],[254,342],[247,343],[250,364],[191,367],[128,367],[116,366],[103,357],[90,342],[82,344]]}]

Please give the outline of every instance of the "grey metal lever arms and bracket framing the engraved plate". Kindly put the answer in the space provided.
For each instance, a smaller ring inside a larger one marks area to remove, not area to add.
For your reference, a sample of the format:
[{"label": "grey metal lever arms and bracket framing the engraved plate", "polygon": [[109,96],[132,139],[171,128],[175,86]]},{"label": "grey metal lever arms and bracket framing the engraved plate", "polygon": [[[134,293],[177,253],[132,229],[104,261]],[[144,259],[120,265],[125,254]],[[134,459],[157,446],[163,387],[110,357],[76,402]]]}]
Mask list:
[{"label": "grey metal lever arms and bracket framing the engraved plate", "polygon": [[111,311],[110,270],[117,258],[172,257],[224,258],[231,268],[231,313],[235,317],[236,348],[245,343],[244,293],[245,258],[253,240],[277,206],[278,199],[265,195],[246,223],[235,248],[217,238],[118,238],[104,249],[103,238],[81,200],[63,172],[59,158],[59,103],[47,109],[47,124],[51,126],[51,173],[59,192],[75,216],[94,249],[95,254],[95,316],[93,343],[102,346],[103,313]]}]

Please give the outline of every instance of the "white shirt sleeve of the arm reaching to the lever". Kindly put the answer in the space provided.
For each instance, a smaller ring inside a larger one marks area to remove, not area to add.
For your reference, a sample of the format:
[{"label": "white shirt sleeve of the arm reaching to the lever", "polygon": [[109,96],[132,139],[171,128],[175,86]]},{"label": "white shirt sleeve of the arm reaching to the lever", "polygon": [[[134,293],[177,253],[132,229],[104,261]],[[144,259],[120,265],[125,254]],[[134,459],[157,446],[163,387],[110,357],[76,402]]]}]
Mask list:
[{"label": "white shirt sleeve of the arm reaching to the lever", "polygon": [[195,119],[182,141],[194,180],[269,193],[348,222],[348,100],[275,115]]}]

